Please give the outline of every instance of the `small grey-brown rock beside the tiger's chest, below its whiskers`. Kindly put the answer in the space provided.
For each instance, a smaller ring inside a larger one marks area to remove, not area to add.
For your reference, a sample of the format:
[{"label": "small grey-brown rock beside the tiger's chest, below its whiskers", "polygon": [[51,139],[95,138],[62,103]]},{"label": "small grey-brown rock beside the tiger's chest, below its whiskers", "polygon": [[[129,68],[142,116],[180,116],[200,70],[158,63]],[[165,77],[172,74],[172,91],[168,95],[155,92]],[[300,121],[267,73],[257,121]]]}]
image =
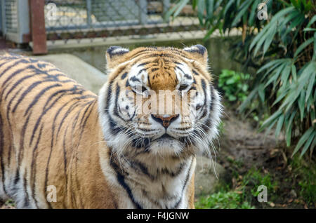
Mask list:
[{"label": "small grey-brown rock beside the tiger's chest, below its whiskers", "polygon": [[223,166],[218,163],[214,163],[214,165],[215,171],[209,158],[204,156],[197,157],[197,167],[195,169],[195,196],[213,193],[216,185],[219,183],[218,179],[225,173],[225,168],[223,168]]}]

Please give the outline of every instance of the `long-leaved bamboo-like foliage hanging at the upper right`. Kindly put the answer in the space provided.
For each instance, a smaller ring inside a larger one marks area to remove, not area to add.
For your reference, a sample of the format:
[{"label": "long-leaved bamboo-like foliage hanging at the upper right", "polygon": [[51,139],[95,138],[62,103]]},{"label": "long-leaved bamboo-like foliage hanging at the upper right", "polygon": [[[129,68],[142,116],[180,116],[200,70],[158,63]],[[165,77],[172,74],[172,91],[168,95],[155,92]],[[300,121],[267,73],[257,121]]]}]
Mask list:
[{"label": "long-leaved bamboo-like foliage hanging at the upper right", "polygon": [[[293,155],[312,154],[316,147],[315,1],[267,1],[268,20],[258,20],[261,2],[192,0],[192,7],[197,8],[202,27],[209,30],[206,39],[216,29],[222,34],[242,30],[232,57],[258,70],[239,110],[250,113],[253,102],[259,101],[257,111],[268,109],[271,114],[261,130],[276,128],[276,137],[283,131],[288,147],[297,142]],[[178,1],[177,11],[187,3]]]}]

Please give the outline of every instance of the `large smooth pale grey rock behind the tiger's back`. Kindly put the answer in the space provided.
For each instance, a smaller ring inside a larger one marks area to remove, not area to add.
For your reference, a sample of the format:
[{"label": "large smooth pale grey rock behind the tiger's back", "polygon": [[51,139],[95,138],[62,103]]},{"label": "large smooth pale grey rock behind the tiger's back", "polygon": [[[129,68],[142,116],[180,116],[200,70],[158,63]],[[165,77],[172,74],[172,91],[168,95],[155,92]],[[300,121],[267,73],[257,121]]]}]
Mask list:
[{"label": "large smooth pale grey rock behind the tiger's back", "polygon": [[[62,72],[67,74],[71,79],[74,79],[86,89],[91,90],[93,93],[98,94],[98,91],[107,81],[107,75],[100,72],[95,67],[84,62],[74,55],[61,53],[43,56],[32,56],[38,60],[51,62],[58,67]],[[104,59],[105,60],[105,59]]]}]

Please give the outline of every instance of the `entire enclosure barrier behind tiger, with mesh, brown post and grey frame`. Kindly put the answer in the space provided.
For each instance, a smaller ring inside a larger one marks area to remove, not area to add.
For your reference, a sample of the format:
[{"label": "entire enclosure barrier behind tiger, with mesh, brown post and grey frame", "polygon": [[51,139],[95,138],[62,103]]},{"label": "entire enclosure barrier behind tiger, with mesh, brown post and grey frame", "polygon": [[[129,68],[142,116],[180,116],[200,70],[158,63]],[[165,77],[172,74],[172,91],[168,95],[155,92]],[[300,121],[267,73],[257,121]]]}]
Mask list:
[{"label": "entire enclosure barrier behind tiger, with mesh, brown post and grey frame", "polygon": [[191,5],[174,20],[166,18],[173,0],[0,1],[2,34],[15,43],[32,41],[34,53],[46,53],[46,41],[195,39],[204,33]]}]

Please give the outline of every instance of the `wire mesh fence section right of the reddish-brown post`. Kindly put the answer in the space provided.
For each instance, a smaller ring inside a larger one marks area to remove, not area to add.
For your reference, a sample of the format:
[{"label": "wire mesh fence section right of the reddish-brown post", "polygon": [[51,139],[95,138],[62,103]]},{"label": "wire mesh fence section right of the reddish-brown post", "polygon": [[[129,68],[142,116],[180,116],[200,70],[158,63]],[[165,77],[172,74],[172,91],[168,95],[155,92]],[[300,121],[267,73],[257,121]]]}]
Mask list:
[{"label": "wire mesh fence section right of the reddish-brown post", "polygon": [[70,39],[197,38],[204,34],[188,4],[174,20],[165,18],[170,0],[54,0],[45,1],[48,41]]}]

